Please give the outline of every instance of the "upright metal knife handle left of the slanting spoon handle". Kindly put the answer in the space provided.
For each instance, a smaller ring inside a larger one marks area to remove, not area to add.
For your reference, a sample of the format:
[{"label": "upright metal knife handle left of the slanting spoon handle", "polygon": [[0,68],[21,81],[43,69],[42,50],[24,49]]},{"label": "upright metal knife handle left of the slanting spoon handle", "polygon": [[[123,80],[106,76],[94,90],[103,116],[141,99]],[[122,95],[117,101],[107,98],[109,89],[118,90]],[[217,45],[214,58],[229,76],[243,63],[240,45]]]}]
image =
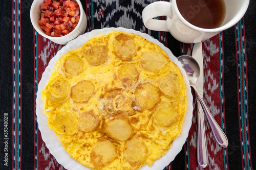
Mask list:
[{"label": "upright metal knife handle left of the slanting spoon handle", "polygon": [[204,112],[197,99],[197,162],[200,167],[205,168],[208,162],[206,137],[204,128]]}]

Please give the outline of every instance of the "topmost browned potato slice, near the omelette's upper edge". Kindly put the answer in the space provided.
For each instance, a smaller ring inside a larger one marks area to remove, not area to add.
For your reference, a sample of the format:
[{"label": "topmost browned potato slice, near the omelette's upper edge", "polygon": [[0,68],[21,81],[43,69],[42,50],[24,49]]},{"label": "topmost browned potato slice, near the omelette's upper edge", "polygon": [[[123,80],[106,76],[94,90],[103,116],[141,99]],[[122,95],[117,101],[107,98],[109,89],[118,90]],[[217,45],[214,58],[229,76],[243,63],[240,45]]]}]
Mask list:
[{"label": "topmost browned potato slice, near the omelette's upper edge", "polygon": [[113,41],[115,55],[123,61],[131,61],[136,56],[136,44],[133,39],[123,33],[115,36]]}]

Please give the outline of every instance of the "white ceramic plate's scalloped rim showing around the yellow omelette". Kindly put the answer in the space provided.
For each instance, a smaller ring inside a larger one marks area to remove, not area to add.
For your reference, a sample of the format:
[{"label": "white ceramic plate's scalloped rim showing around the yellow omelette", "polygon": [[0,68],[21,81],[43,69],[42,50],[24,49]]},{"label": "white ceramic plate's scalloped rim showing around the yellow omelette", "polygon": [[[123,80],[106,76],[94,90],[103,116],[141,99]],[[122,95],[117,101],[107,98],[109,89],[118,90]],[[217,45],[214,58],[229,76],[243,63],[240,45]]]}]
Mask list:
[{"label": "white ceramic plate's scalloped rim showing around the yellow omelette", "polygon": [[193,96],[191,94],[191,89],[189,86],[189,82],[185,76],[185,71],[181,67],[177,58],[173,55],[172,52],[168,48],[166,48],[162,43],[160,43],[157,39],[154,39],[148,34],[141,33],[139,31],[131,30],[131,29],[124,29],[124,28],[104,28],[100,30],[93,30],[89,33],[85,33],[80,35],[76,39],[70,41],[66,46],[62,47],[60,51],[56,54],[55,57],[49,62],[49,65],[46,67],[44,73],[42,74],[41,81],[38,84],[38,91],[37,91],[37,98],[36,98],[36,115],[37,115],[37,122],[38,128],[41,132],[42,140],[46,143],[47,148],[49,149],[50,153],[56,158],[58,163],[63,165],[66,169],[77,169],[77,170],[89,170],[88,167],[83,166],[76,160],[72,159],[69,154],[64,150],[60,141],[58,140],[57,136],[55,135],[53,129],[50,129],[48,126],[47,115],[44,113],[44,102],[41,100],[42,93],[41,91],[45,89],[49,78],[54,70],[55,62],[62,57],[64,54],[68,53],[71,50],[75,50],[79,48],[83,43],[87,42],[91,37],[106,34],[111,31],[123,31],[127,33],[134,33],[144,37],[145,39],[158,44],[170,57],[170,59],[179,66],[183,77],[185,79],[185,83],[187,86],[187,111],[185,114],[184,123],[182,126],[181,134],[178,136],[174,141],[170,149],[167,153],[162,156],[159,160],[156,160],[154,165],[148,167],[148,165],[144,165],[140,167],[140,170],[162,170],[165,166],[167,166],[170,162],[174,160],[176,155],[181,151],[183,144],[188,137],[188,131],[191,127],[191,119],[193,116]]}]

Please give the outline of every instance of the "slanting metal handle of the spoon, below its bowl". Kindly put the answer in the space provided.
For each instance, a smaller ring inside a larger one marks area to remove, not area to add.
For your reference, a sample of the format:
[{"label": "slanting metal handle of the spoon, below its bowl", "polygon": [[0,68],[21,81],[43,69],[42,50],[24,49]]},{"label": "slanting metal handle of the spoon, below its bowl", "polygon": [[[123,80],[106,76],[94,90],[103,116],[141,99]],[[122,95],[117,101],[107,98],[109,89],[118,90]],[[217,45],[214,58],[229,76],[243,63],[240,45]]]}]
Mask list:
[{"label": "slanting metal handle of the spoon, below its bowl", "polygon": [[214,137],[216,139],[216,141],[223,147],[223,148],[227,148],[228,145],[228,140],[227,140],[227,136],[225,135],[225,133],[222,131],[222,129],[220,128],[220,126],[217,124],[216,120],[214,119],[214,117],[211,115],[209,109],[207,108],[206,104],[204,103],[204,100],[202,98],[202,96],[200,95],[200,93],[197,91],[197,89],[195,88],[195,91],[197,93],[198,96],[198,100],[200,101],[203,110],[206,114],[206,117],[209,121],[210,127],[212,132],[214,133]]}]

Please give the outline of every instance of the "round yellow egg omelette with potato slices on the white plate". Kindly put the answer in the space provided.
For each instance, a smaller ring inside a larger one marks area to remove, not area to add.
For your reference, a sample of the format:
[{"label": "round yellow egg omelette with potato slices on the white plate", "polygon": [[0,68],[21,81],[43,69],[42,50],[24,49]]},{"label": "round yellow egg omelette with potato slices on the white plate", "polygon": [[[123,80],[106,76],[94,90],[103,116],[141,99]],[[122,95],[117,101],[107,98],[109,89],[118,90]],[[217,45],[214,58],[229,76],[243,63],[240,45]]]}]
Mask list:
[{"label": "round yellow egg omelette with potato slices on the white plate", "polygon": [[138,169],[165,155],[187,107],[178,66],[158,45],[113,31],[63,55],[42,91],[49,127],[91,169]]}]

